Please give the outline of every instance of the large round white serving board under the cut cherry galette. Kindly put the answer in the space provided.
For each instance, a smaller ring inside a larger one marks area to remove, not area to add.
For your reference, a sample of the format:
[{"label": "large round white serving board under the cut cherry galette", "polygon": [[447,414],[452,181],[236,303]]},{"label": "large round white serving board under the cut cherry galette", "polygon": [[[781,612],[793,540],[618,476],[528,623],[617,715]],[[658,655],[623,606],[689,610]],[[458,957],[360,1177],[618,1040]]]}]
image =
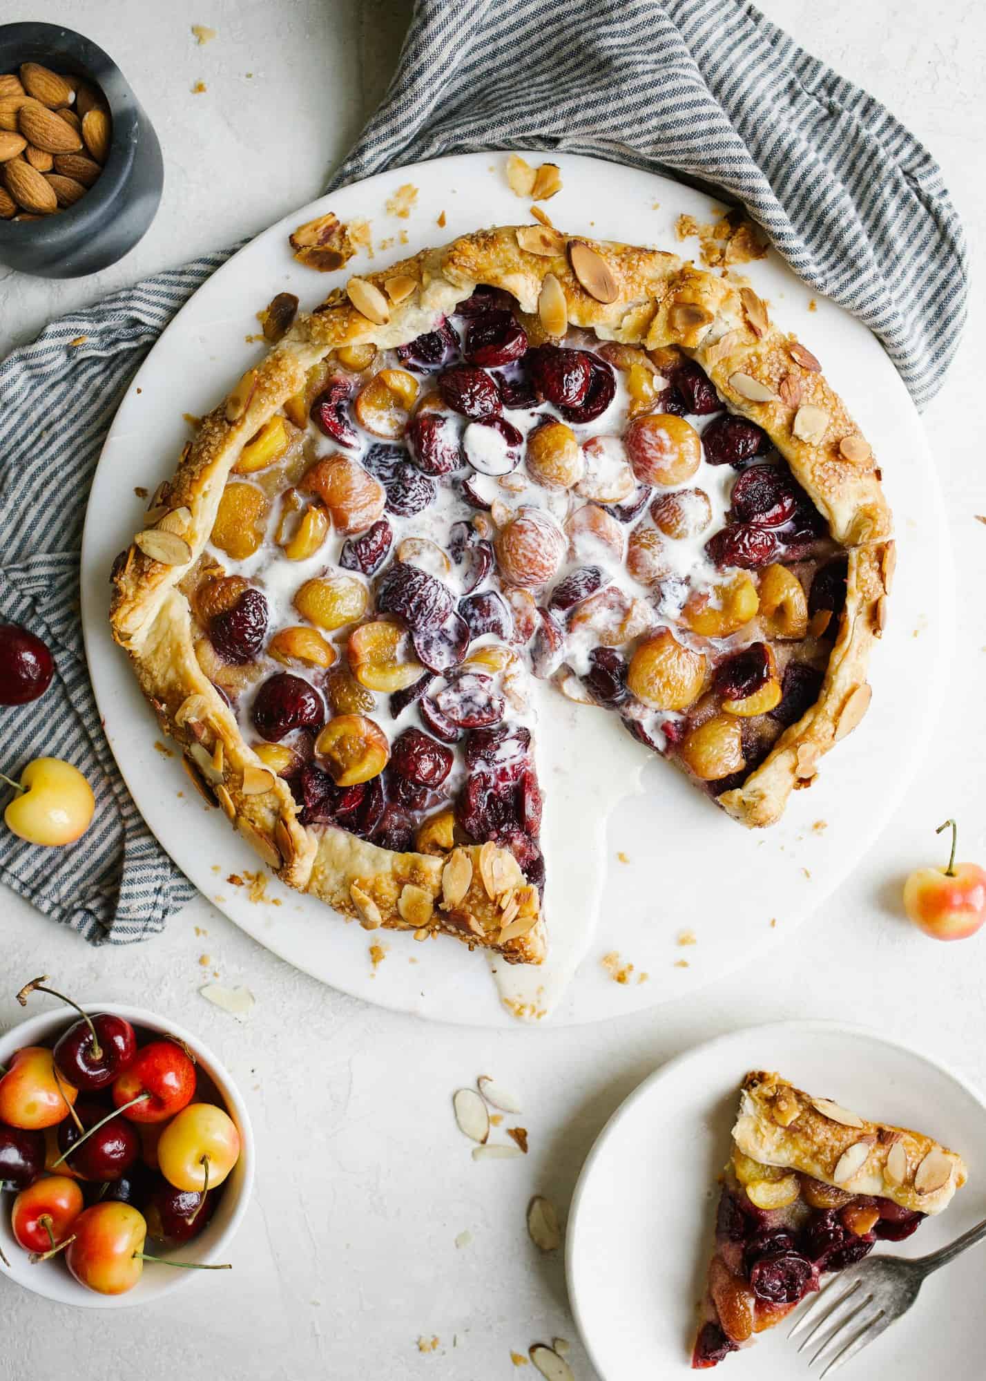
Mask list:
[{"label": "large round white serving board under the cut cherry galette", "polygon": [[[548,207],[557,225],[697,255],[695,240],[675,240],[675,221],[684,213],[708,220],[707,196],[595,159],[562,153],[558,163],[563,189]],[[177,754],[155,749],[152,713],[109,635],[108,572],[141,525],[144,503],[134,489],[153,492],[174,471],[189,436],[182,414],[213,407],[262,351],[244,340],[257,333],[257,311],[278,291],[294,291],[311,308],[340,280],[297,264],[287,233],[329,209],[342,220],[367,217],[378,265],[478,224],[525,221],[529,203],[507,188],[503,164],[503,155],[463,155],[381,174],[300,209],[224,265],[164,331],[117,412],[93,485],[81,570],[86,648],[106,735],[138,808],[175,862],[231,920],[323,982],[384,1007],[470,1025],[514,1021],[482,956],[445,939],[421,946],[410,935],[367,936],[278,882],[257,902],[226,881],[261,865],[221,812],[207,812],[186,790]],[[406,182],[418,189],[416,206],[407,220],[394,218],[385,202]],[[347,268],[367,267],[360,255]],[[928,743],[914,726],[934,724],[946,681],[951,574],[917,413],[863,326],[824,301],[812,307],[811,291],[775,255],[744,272],[775,319],[822,359],[882,464],[900,559],[891,621],[873,657],[873,708],[826,758],[813,789],[794,794],[782,823],[751,834],[634,743],[615,715],[554,696],[539,731],[554,958],[511,979],[534,1011],[557,1004],[555,1022],[599,1021],[695,992],[789,934],[871,847]],[[552,910],[552,874],[566,877],[566,894],[577,900]],[[597,898],[605,902],[594,932]],[[682,929],[699,939],[686,952],[677,946]],[[376,967],[373,940],[385,954]],[[634,967],[628,983],[613,982],[599,963],[613,952]],[[682,954],[688,967],[678,964]]]}]

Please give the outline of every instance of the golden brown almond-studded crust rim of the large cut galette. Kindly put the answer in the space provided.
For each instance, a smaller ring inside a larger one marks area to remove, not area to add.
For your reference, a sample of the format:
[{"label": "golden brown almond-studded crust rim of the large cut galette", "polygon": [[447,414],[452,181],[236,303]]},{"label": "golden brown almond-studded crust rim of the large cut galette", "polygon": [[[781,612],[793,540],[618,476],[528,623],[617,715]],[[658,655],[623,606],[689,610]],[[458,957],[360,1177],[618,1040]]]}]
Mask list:
[{"label": "golden brown almond-studded crust rim of the large cut galette", "polygon": [[[880,471],[844,403],[811,354],[769,323],[765,304],[750,289],[660,250],[583,240],[602,255],[616,282],[615,301],[603,304],[583,289],[565,247],[557,254],[533,254],[521,249],[516,232],[515,226],[476,231],[367,275],[365,280],[384,294],[388,280],[416,284],[399,305],[391,305],[384,325],[360,315],[342,289],[300,316],[203,418],[174,478],[155,494],[148,528],[156,525],[182,537],[188,559],[168,565],[131,544],[113,569],[110,621],[162,726],[185,744],[206,798],[225,809],[282,881],[367,927],[414,929],[423,938],[443,931],[500,950],[512,963],[540,963],[545,953],[543,920],[525,935],[500,940],[504,907],[476,881],[478,848],[467,851],[474,884],[465,902],[442,910],[442,858],[394,853],[334,827],[305,827],[280,779],[262,794],[243,791],[243,769],[261,764],[197,664],[191,610],[178,586],[209,540],[226,478],[244,443],[304,387],[308,369],[329,351],[362,342],[378,348],[405,344],[431,330],[439,313],[452,312],[479,283],[505,289],[525,312],[534,313],[544,279],[554,275],[570,326],[591,329],[602,340],[648,349],[677,345],[692,355],[729,407],[768,432],[849,558],[845,617],[818,703],[784,731],[740,787],[719,797],[719,804],[747,826],[773,823],[790,791],[811,784],[818,760],[864,713],[866,666],[882,628],[893,543]],[[573,238],[558,233],[570,249]],[[771,396],[762,402],[748,396],[765,392]]]}]

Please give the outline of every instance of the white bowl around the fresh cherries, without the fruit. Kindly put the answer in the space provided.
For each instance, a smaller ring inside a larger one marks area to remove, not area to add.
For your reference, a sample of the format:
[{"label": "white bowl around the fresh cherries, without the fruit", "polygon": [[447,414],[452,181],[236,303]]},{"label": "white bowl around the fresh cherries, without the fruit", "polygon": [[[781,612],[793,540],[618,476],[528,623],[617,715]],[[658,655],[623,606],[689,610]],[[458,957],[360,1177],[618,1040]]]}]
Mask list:
[{"label": "white bowl around the fresh cherries, without the fruit", "polygon": [[[250,1201],[254,1174],[253,1128],[250,1127],[246,1103],[236,1084],[233,1084],[228,1072],[211,1050],[203,1045],[197,1036],[186,1032],[182,1026],[175,1025],[175,1022],[166,1021],[163,1016],[148,1012],[142,1007],[122,1007],[119,1003],[83,1003],[81,1007],[87,1012],[113,1012],[116,1016],[124,1016],[138,1029],[142,1027],[144,1030],[163,1036],[174,1036],[177,1040],[184,1041],[204,1073],[215,1084],[225,1109],[236,1123],[236,1130],[240,1134],[240,1157],[222,1186],[222,1197],[204,1230],[197,1237],[170,1251],[163,1247],[155,1248],[153,1244],[151,1250],[156,1255],[164,1258],[174,1257],[177,1261],[196,1261],[202,1264],[232,1261],[229,1247]],[[14,1051],[21,1050],[23,1045],[52,1045],[65,1027],[72,1025],[73,1019],[73,1012],[68,1007],[62,1007],[30,1016],[26,1022],[21,1022],[18,1026],[11,1027],[11,1030],[4,1032],[0,1036],[0,1065],[8,1065]],[[79,1305],[83,1309],[123,1309],[130,1305],[159,1300],[170,1290],[188,1286],[191,1280],[199,1279],[197,1271],[177,1271],[168,1266],[156,1266],[148,1261],[144,1264],[144,1273],[133,1290],[122,1295],[95,1294],[95,1291],[80,1286],[75,1276],[70,1275],[65,1262],[58,1258],[32,1266],[28,1253],[22,1247],[18,1247],[10,1230],[10,1208],[14,1196],[6,1193],[1,1199],[0,1248],[3,1248],[3,1254],[10,1261],[10,1271],[0,1261],[0,1277],[15,1280],[25,1290],[33,1290],[35,1294],[57,1300],[59,1304]]]}]

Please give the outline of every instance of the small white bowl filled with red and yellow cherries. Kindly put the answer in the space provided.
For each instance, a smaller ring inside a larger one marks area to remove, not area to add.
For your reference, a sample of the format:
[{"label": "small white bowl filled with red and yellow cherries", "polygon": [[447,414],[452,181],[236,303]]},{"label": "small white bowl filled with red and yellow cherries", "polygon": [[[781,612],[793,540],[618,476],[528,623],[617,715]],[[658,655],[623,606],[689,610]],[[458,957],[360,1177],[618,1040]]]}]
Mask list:
[{"label": "small white bowl filled with red and yellow cherries", "polygon": [[[50,993],[28,983],[18,1000]],[[232,1079],[137,1007],[46,1011],[0,1036],[0,1275],[61,1304],[146,1304],[228,1246],[253,1185]]]}]

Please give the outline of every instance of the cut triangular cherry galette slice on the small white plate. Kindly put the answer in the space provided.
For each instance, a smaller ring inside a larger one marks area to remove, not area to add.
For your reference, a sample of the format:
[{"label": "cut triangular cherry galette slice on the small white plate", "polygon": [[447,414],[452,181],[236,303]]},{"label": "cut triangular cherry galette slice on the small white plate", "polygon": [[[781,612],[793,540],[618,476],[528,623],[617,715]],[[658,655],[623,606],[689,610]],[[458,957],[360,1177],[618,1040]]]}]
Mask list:
[{"label": "cut triangular cherry galette slice on the small white plate", "polygon": [[750,1344],[877,1242],[909,1237],[965,1178],[963,1157],[924,1132],[747,1074],[692,1367]]}]

